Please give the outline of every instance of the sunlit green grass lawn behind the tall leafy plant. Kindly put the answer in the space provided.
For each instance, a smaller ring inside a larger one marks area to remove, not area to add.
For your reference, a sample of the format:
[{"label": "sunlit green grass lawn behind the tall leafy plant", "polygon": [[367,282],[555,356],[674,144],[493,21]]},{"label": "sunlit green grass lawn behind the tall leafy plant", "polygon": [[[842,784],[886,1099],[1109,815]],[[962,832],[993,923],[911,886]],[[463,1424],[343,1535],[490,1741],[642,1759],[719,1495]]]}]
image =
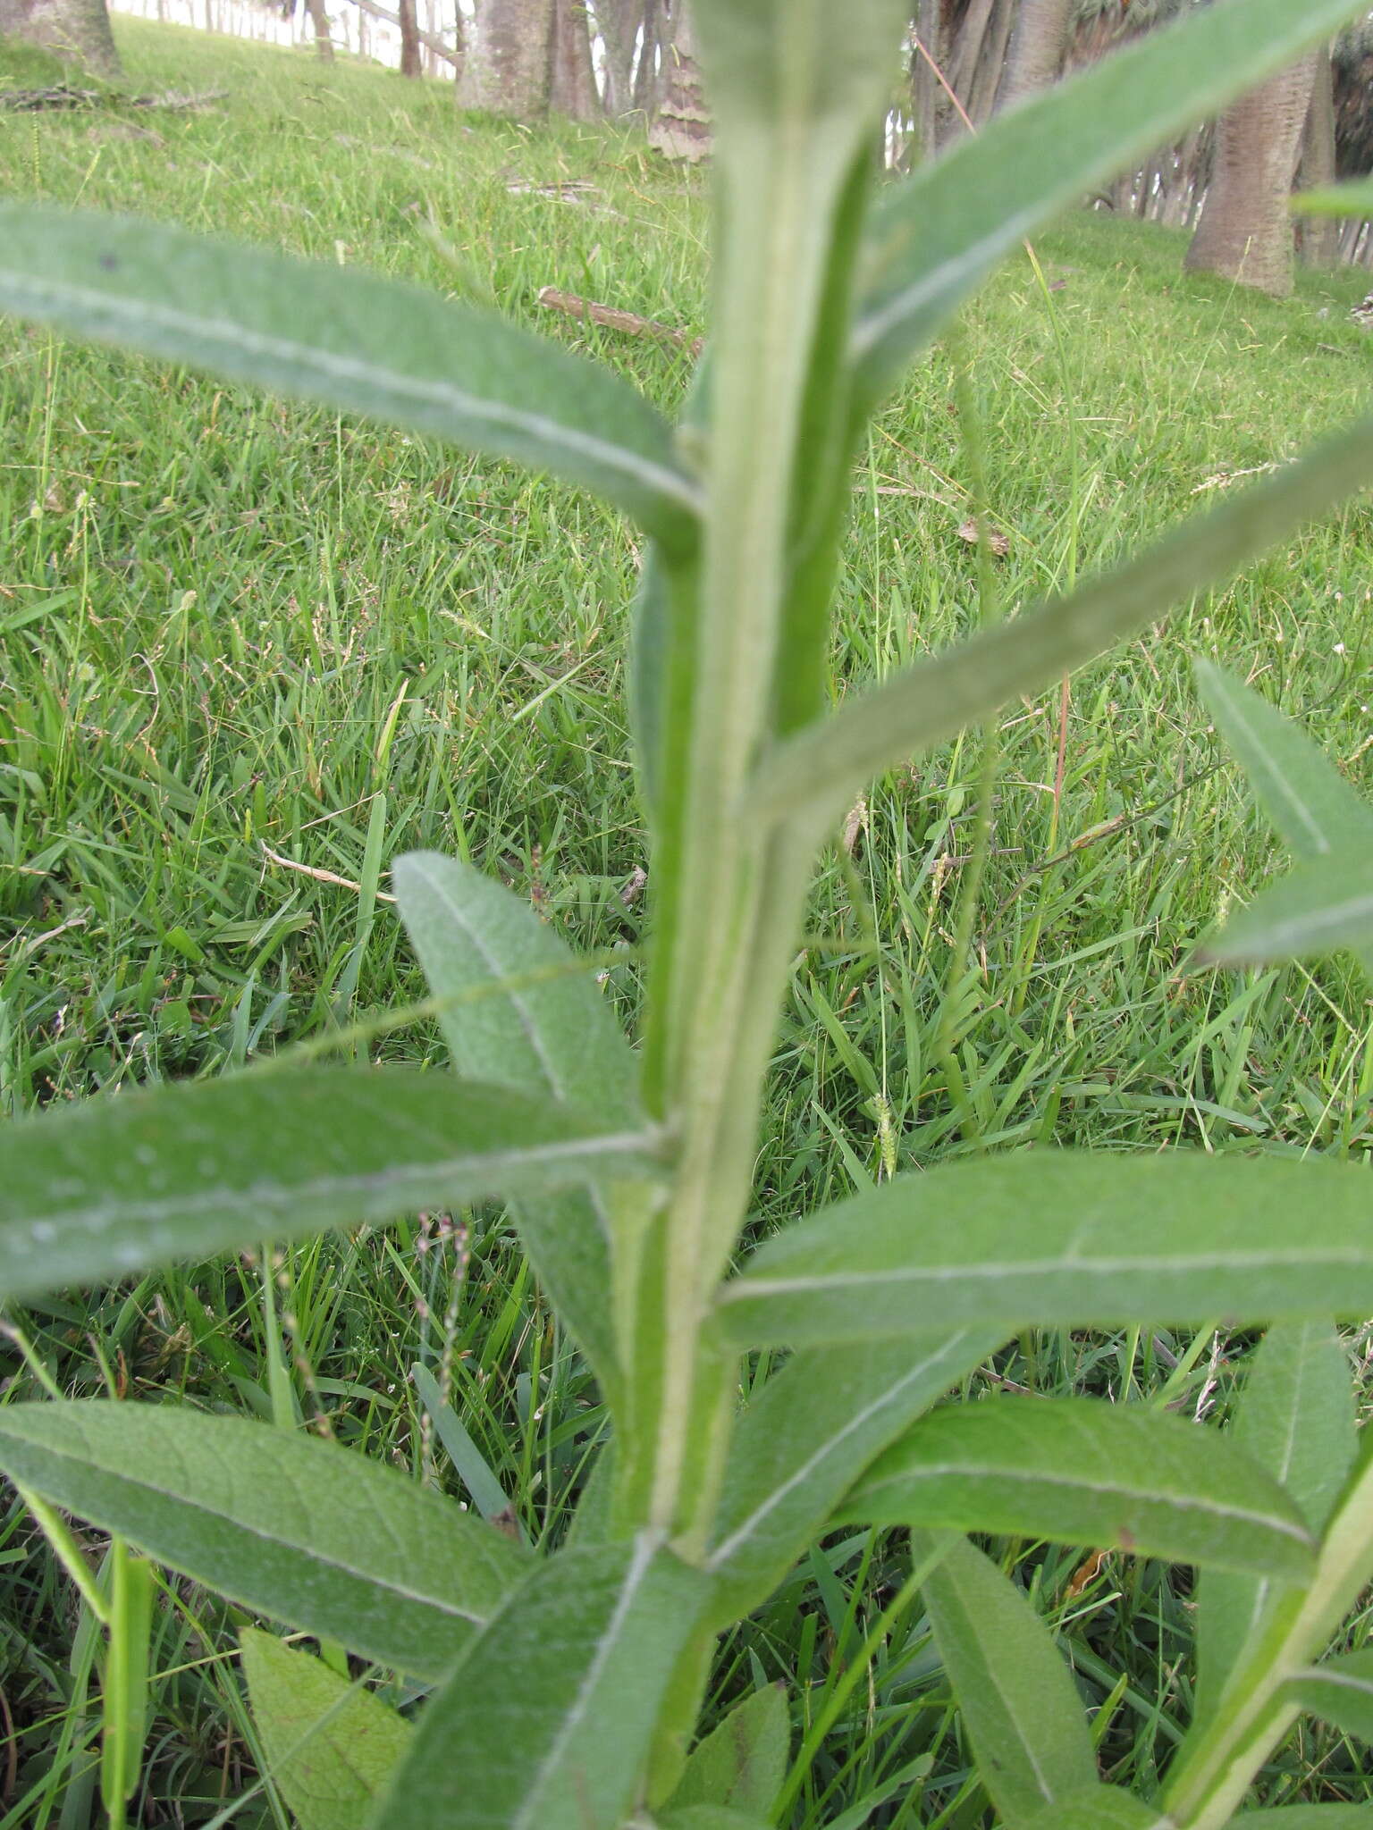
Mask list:
[{"label": "sunlit green grass lawn behind the tall leafy plant", "polygon": [[[703,181],[637,137],[465,117],[439,84],[174,27],[117,20],[117,37],[132,92],[225,93],[0,113],[5,194],[496,300],[681,401],[679,348],[536,304],[558,285],[703,329]],[[1274,304],[1183,278],[1181,253],[1175,234],[1075,216],[1038,243],[1047,296],[1016,260],[921,361],[855,476],[835,694],[979,615],[959,370],[1009,538],[1007,609],[1368,408],[1373,340],[1347,320],[1366,273],[1307,274]],[[15,324],[0,423],[0,1109],[291,1047],[436,1060],[436,1032],[388,1021],[423,996],[384,897],[390,858],[417,845],[472,858],[613,955],[633,1023],[652,884],[637,893],[622,708],[637,551],[621,522],[513,467]],[[1195,653],[1368,785],[1369,498],[1078,675],[1065,705],[1005,710],[972,970],[954,941],[983,739],[855,809],[778,1039],[765,1222],[897,1166],[1014,1144],[1368,1151],[1373,1028],[1353,968],[1183,970],[1280,862],[1190,688]],[[313,1418],[463,1491],[408,1378],[425,1362],[531,1535],[557,1537],[597,1396],[500,1215],[456,1222],[35,1305],[0,1343],[5,1389]],[[1245,1347],[1212,1329],[1034,1336],[985,1376],[1208,1415]],[[0,1830],[77,1830],[93,1821],[95,1642],[7,1508]],[[1016,1554],[1100,1706],[1108,1775],[1148,1782],[1190,1711],[1184,1576],[1108,1561],[1076,1581],[1071,1552]],[[796,1826],[857,1826],[875,1795],[875,1825],[987,1821],[919,1607],[870,1640],[901,1556],[882,1534],[826,1543],[721,1649],[716,1702],[795,1685],[811,1760]],[[256,1779],[234,1610],[176,1579],[167,1601],[141,1821],[284,1830]],[[1270,1801],[1373,1799],[1364,1766],[1307,1724]]]}]

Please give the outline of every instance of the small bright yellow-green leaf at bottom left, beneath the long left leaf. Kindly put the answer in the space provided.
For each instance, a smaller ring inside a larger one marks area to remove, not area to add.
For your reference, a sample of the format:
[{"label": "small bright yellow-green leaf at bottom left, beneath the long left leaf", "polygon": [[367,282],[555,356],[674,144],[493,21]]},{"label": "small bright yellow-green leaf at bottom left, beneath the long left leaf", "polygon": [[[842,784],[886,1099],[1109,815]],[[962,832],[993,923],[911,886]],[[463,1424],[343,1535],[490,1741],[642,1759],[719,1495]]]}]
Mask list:
[{"label": "small bright yellow-green leaf at bottom left, beneath the long left leaf", "polygon": [[240,1634],[267,1770],[300,1830],[366,1830],[414,1729],[379,1696],[271,1632]]}]

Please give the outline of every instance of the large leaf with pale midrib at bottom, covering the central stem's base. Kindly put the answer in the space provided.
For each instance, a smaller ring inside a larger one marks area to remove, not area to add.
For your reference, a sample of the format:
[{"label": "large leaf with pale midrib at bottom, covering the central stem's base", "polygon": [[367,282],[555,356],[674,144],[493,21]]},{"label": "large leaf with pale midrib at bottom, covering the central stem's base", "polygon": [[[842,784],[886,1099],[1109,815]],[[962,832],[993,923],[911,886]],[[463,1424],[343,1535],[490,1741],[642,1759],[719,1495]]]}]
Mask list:
[{"label": "large leaf with pale midrib at bottom, covering the central stem's base", "polygon": [[538,1565],[425,1706],[372,1830],[619,1830],[707,1592],[646,1535]]}]

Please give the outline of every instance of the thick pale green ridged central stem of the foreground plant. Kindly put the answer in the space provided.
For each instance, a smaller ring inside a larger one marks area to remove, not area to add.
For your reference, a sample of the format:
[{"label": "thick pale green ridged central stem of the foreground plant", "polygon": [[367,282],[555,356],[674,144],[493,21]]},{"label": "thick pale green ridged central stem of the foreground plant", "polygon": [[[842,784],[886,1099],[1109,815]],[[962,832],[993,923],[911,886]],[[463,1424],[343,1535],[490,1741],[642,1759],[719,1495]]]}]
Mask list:
[{"label": "thick pale green ridged central stem of the foreground plant", "polygon": [[[666,1109],[681,1146],[644,1292],[641,1369],[657,1393],[646,1519],[705,1541],[729,1407],[705,1362],[714,1286],[747,1211],[756,1113],[805,869],[787,831],[747,814],[773,734],[796,445],[838,190],[849,161],[785,121],[734,130],[719,258],[694,717],[672,871],[672,948],[655,966]],[[729,185],[743,170],[749,183]]]}]

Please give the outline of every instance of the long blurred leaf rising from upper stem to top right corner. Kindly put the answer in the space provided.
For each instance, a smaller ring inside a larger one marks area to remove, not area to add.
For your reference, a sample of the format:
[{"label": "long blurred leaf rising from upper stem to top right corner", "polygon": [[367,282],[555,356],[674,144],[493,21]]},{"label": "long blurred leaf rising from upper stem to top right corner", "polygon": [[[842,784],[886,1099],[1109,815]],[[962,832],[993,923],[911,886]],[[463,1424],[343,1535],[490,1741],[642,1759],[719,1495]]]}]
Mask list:
[{"label": "long blurred leaf rising from upper stem to top right corner", "polygon": [[1360,11],[1349,0],[1225,0],[1009,110],[893,185],[873,212],[853,335],[864,397],[884,392],[1038,223]]}]

